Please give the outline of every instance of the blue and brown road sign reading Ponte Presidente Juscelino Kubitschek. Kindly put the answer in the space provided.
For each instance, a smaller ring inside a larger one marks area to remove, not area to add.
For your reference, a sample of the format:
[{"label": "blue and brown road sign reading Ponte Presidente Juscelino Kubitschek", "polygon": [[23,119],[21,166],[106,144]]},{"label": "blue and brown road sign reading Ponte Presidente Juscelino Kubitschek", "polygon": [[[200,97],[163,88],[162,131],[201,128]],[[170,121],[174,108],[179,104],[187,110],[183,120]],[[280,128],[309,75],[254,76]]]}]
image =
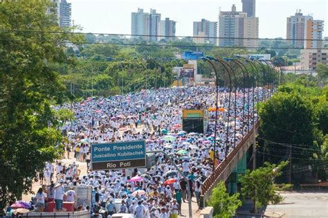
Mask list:
[{"label": "blue and brown road sign reading Ponte Presidente Juscelino Kubitschek", "polygon": [[92,170],[146,167],[144,140],[91,145]]}]

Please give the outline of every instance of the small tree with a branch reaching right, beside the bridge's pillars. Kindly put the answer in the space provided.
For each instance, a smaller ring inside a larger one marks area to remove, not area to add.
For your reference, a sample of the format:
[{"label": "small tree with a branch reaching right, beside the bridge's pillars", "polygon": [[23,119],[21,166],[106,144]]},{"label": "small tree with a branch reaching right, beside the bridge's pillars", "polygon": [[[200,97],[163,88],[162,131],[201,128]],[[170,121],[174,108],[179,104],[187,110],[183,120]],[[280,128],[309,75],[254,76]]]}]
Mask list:
[{"label": "small tree with a branch reaching right, beside the bridge's pillars", "polygon": [[264,167],[256,170],[246,170],[246,174],[242,177],[242,195],[244,198],[249,197],[253,201],[253,212],[257,212],[257,208],[262,208],[268,203],[279,203],[282,201],[277,190],[274,180],[282,174],[281,170],[288,161],[282,161],[279,165],[266,163]]}]

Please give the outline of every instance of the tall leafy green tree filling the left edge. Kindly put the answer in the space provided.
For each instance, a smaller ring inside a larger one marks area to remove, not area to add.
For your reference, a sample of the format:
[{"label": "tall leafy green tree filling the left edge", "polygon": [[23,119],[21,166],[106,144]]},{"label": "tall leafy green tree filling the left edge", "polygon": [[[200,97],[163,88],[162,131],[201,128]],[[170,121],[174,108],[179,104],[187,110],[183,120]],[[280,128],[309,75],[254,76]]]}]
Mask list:
[{"label": "tall leafy green tree filling the left edge", "polygon": [[45,162],[63,151],[50,102],[65,100],[65,89],[53,63],[66,62],[66,42],[80,37],[55,34],[70,29],[47,8],[48,1],[0,3],[0,29],[8,29],[0,32],[0,203],[30,192]]}]

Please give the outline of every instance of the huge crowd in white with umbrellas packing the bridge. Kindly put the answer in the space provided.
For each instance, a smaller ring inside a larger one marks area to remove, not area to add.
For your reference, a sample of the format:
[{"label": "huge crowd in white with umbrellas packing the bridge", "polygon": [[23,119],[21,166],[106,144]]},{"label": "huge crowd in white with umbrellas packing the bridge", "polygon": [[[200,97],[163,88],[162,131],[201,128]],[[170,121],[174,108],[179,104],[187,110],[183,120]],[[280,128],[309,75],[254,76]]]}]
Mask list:
[{"label": "huge crowd in white with umbrellas packing the bridge", "polygon": [[[253,93],[255,91],[255,93]],[[130,213],[135,217],[177,217],[181,205],[188,201],[188,185],[192,197],[201,207],[200,192],[203,181],[215,165],[223,161],[234,145],[257,119],[253,113],[253,97],[262,98],[262,89],[247,89],[246,95],[237,90],[237,95],[219,89],[217,122],[217,149],[213,150],[215,111],[208,112],[203,133],[182,131],[182,109],[215,108],[213,87],[188,87],[158,89],[129,93],[110,98],[88,98],[73,104],[75,120],[66,122],[62,131],[68,136],[66,153],[74,152],[77,161],[85,162],[88,173],[80,174],[78,165],[47,163],[40,172],[40,183],[53,188],[46,190],[48,199],[54,199],[56,210],[62,209],[62,201],[68,193],[63,185],[88,185],[93,188],[91,213],[110,217],[113,213]],[[248,101],[248,99],[250,99]],[[55,109],[71,109],[62,105]],[[230,111],[228,111],[230,108]],[[251,111],[251,113],[249,113]],[[229,118],[229,119],[228,119]],[[228,122],[229,120],[229,122]],[[93,171],[90,165],[92,143],[145,140],[147,150],[163,150],[178,165],[187,179],[179,175],[174,165],[156,154],[156,165],[148,169]],[[214,156],[216,160],[213,161]],[[54,182],[55,181],[55,182]],[[56,184],[57,183],[57,184]],[[42,190],[39,190],[42,193]],[[39,194],[39,192],[38,192]],[[38,195],[37,194],[37,195]],[[71,192],[72,194],[72,192]],[[76,200],[75,197],[71,201]],[[44,198],[37,197],[39,208],[44,207]],[[120,201],[119,209],[116,201]],[[75,205],[78,208],[78,205]]]}]

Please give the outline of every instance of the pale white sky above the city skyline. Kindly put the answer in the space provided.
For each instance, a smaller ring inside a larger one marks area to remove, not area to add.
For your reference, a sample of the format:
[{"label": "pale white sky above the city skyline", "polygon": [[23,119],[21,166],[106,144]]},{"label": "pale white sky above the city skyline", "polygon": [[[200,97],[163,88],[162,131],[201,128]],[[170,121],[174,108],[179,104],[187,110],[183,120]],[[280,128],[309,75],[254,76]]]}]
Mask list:
[{"label": "pale white sky above the city skyline", "polygon": [[[233,4],[242,10],[242,0],[68,0],[72,3],[72,19],[85,33],[131,34],[131,12],[150,8],[161,13],[161,19],[176,21],[176,35],[192,36],[192,22],[202,18],[217,21],[219,8],[230,11]],[[328,36],[327,0],[256,0],[260,38],[286,38],[286,17],[303,15],[325,21],[324,36]]]}]

